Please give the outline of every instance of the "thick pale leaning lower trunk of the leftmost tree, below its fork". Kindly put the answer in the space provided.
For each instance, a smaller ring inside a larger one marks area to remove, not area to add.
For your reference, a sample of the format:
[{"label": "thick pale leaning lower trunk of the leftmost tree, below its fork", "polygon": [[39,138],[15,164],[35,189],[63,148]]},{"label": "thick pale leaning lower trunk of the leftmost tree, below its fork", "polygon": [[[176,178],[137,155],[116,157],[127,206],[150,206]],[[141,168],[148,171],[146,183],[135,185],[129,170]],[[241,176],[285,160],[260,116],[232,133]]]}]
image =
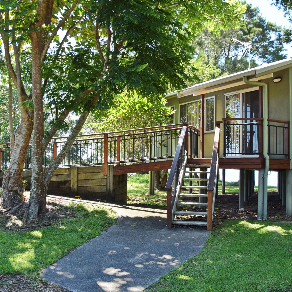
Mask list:
[{"label": "thick pale leaning lower trunk of the leftmost tree, below its fork", "polygon": [[32,134],[32,117],[22,120],[15,133],[15,144],[11,152],[10,163],[3,176],[2,207],[12,208],[24,201],[22,171],[27,148]]}]

